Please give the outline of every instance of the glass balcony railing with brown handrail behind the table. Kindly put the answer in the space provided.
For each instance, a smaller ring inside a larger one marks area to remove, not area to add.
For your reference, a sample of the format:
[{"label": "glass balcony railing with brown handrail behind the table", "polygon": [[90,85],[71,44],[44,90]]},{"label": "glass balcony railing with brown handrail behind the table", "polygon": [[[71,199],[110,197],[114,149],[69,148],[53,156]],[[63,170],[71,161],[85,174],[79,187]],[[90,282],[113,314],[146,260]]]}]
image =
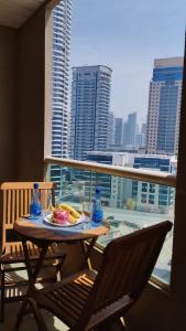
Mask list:
[{"label": "glass balcony railing with brown handrail behind the table", "polygon": [[[47,158],[47,180],[57,183],[56,202],[90,212],[95,188],[102,189],[103,215],[110,225],[98,244],[158,222],[174,222],[175,177],[83,161]],[[152,184],[153,183],[153,184]],[[144,190],[145,188],[145,190]],[[173,232],[168,234],[153,276],[169,284]]]}]

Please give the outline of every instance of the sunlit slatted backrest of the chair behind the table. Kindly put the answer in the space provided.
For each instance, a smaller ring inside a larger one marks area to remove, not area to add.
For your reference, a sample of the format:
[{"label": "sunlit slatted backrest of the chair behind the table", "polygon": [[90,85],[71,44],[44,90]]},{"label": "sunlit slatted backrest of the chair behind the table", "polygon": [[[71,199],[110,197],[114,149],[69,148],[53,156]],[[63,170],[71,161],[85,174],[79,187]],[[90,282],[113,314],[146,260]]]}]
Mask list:
[{"label": "sunlit slatted backrest of the chair behind the table", "polygon": [[[13,223],[20,216],[29,214],[34,182],[6,182],[1,184],[3,192],[2,249],[6,247],[7,231],[13,228]],[[53,182],[39,182],[42,207],[47,206],[47,195],[54,191]]]}]

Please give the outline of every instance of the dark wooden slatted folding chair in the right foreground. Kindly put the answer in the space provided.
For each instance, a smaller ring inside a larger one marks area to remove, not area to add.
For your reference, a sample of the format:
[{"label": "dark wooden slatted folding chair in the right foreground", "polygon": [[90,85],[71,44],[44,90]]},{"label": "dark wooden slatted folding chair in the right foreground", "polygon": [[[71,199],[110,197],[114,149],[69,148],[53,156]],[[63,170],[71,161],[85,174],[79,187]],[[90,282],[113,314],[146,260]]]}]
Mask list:
[{"label": "dark wooden slatted folding chair in the right foreground", "polygon": [[[113,239],[103,252],[98,274],[84,269],[58,284],[31,291],[25,300],[39,330],[47,331],[40,308],[57,316],[72,331],[107,330],[141,296],[171,228],[172,223],[166,221]],[[21,320],[20,313],[15,329]]]}]

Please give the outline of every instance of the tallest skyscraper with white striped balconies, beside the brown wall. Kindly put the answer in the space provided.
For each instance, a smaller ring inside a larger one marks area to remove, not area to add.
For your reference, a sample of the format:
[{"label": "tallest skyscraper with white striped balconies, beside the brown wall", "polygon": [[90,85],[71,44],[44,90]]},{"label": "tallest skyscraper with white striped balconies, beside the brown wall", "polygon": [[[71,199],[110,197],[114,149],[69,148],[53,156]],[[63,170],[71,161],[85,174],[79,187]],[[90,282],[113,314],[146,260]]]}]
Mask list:
[{"label": "tallest skyscraper with white striped balconies, beside the brown wall", "polygon": [[[53,111],[52,111],[52,156],[69,156],[69,42],[72,0],[63,0],[53,10]],[[61,185],[61,168],[51,167],[51,178]]]}]

